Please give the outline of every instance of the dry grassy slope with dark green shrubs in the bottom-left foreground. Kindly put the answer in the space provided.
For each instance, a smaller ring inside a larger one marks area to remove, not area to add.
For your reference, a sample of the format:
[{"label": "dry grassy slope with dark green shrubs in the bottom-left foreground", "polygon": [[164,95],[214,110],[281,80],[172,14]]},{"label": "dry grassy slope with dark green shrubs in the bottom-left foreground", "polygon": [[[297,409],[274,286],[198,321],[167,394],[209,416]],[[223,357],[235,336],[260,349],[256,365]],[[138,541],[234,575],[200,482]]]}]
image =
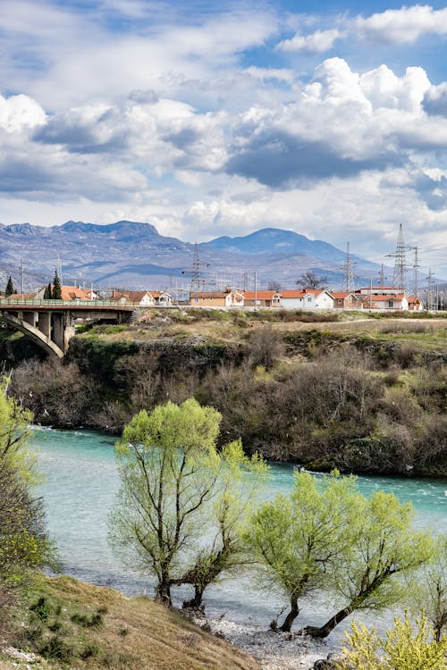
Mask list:
[{"label": "dry grassy slope with dark green shrubs in the bottom-left foreground", "polygon": [[[7,613],[0,622],[0,670],[259,668],[176,611],[70,577],[39,578]],[[11,648],[36,656],[20,657]]]}]

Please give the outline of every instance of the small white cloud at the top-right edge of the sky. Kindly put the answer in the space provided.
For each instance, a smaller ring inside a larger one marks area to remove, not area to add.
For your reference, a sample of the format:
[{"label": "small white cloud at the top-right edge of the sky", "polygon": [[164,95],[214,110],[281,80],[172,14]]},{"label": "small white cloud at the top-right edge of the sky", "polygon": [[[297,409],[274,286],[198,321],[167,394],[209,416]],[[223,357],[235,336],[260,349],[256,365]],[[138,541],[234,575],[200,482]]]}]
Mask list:
[{"label": "small white cloud at the top-right edge of the sky", "polygon": [[413,44],[427,33],[447,34],[447,8],[434,10],[428,4],[387,9],[364,19],[358,17],[353,28],[363,38],[387,44]]}]

